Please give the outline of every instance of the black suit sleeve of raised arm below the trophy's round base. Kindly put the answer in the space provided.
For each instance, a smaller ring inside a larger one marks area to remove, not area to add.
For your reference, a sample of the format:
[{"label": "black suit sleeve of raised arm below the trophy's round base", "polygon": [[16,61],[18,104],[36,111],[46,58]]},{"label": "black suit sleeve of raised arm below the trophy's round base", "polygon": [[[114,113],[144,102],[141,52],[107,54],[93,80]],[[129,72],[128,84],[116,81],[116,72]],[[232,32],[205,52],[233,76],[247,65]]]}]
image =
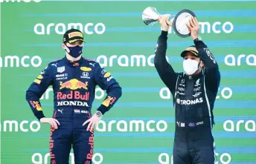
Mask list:
[{"label": "black suit sleeve of raised arm below the trophy's round base", "polygon": [[217,93],[220,86],[220,70],[213,54],[202,41],[194,41],[199,57],[205,65],[205,87]]}]

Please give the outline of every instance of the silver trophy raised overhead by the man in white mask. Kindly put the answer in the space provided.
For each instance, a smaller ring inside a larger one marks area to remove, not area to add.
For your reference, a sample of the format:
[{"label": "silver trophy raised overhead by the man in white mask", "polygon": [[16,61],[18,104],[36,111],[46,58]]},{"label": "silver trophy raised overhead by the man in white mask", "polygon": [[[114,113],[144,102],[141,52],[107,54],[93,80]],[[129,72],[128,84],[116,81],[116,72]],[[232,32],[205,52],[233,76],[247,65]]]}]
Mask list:
[{"label": "silver trophy raised overhead by the man in white mask", "polygon": [[[191,10],[181,10],[176,14],[176,16],[173,17],[170,16],[170,14],[161,15],[156,11],[155,7],[147,7],[142,13],[142,20],[146,25],[153,25],[156,22],[159,22],[163,16],[166,20],[166,23],[173,27],[173,30],[177,36],[182,38],[191,36],[191,30],[188,29],[187,24],[190,23],[189,19],[191,17],[196,17],[196,15]],[[161,24],[161,27],[162,26],[163,25]]]}]

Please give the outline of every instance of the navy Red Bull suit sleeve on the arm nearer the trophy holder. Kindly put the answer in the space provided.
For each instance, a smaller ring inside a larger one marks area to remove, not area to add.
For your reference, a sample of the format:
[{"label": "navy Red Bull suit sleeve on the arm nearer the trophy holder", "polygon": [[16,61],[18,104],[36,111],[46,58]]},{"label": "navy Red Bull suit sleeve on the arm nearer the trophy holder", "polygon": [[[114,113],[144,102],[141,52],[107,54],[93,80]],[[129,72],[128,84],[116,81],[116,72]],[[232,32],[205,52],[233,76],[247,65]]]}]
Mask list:
[{"label": "navy Red Bull suit sleeve on the arm nearer the trophy holder", "polygon": [[109,109],[112,108],[112,106],[115,105],[115,102],[117,102],[121,97],[122,89],[111,74],[104,68],[100,67],[99,63],[95,64],[95,68],[95,81],[103,91],[106,91],[107,94],[100,107],[97,108],[97,111],[105,114],[106,111],[109,111]]}]

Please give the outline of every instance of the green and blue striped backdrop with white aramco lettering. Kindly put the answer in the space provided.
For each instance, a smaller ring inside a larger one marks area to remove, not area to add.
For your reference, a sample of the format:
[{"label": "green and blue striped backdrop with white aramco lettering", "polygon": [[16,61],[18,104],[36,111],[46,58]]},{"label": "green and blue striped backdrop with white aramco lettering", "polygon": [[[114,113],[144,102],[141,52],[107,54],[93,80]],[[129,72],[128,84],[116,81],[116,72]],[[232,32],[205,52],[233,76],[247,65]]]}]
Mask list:
[{"label": "green and blue striped backdrop with white aramco lettering", "polygon": [[[175,127],[173,99],[153,67],[160,25],[141,20],[190,9],[199,35],[220,65],[214,137],[218,163],[255,164],[256,1],[34,1],[1,3],[1,163],[49,163],[49,125],[39,125],[25,91],[48,62],[65,55],[65,30],[83,30],[83,56],[97,59],[120,82],[123,96],[95,132],[95,161],[104,164],[170,163]],[[168,61],[182,71],[179,54],[192,45],[170,30]],[[106,94],[97,89],[93,110]],[[42,99],[53,111],[51,88]],[[137,126],[137,128],[136,128]],[[151,130],[150,130],[151,129]],[[46,156],[45,156],[46,154]]]}]

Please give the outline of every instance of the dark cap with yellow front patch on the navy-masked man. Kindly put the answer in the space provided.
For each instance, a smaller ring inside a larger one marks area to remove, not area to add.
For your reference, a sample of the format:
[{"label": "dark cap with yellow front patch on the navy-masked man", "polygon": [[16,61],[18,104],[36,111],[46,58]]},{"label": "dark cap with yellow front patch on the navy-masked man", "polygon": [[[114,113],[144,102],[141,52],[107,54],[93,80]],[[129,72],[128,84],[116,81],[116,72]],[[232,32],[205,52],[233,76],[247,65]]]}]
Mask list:
[{"label": "dark cap with yellow front patch on the navy-masked man", "polygon": [[84,41],[83,39],[83,33],[80,30],[71,28],[70,30],[65,31],[63,35],[63,43],[68,42],[76,42],[76,41]]}]

